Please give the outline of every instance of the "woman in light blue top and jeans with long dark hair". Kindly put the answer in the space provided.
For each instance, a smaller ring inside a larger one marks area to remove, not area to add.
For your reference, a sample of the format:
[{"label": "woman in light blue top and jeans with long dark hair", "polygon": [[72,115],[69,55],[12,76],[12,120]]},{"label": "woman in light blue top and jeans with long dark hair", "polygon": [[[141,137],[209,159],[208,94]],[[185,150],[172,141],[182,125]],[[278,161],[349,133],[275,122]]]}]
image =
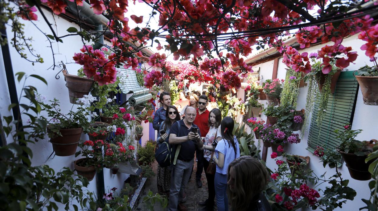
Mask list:
[{"label": "woman in light blue top and jeans with long dark hair", "polygon": [[217,170],[214,177],[215,198],[217,200],[218,211],[228,210],[227,198],[227,169],[228,165],[238,157],[240,157],[239,143],[232,134],[234,130],[234,120],[231,117],[225,117],[220,123],[220,132],[222,140],[220,140],[215,148],[215,163]]}]

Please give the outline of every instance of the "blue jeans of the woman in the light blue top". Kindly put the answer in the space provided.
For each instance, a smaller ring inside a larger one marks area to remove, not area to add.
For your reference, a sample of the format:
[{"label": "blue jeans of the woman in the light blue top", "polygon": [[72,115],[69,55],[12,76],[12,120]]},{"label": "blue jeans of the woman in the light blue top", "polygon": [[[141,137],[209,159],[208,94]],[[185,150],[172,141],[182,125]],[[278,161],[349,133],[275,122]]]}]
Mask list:
[{"label": "blue jeans of the woman in the light blue top", "polygon": [[214,186],[218,211],[228,211],[227,174],[215,172]]}]

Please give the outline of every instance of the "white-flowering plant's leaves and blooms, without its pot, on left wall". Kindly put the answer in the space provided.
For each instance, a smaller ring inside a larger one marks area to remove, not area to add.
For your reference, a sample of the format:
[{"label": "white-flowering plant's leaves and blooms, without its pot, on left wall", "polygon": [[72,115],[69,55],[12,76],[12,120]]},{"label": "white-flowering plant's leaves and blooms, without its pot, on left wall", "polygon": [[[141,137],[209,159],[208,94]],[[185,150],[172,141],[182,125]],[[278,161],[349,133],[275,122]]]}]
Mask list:
[{"label": "white-flowering plant's leaves and blooms, without its pot, on left wall", "polygon": [[[37,99],[36,95],[36,100]],[[43,99],[43,98],[41,98]],[[49,138],[56,136],[62,136],[60,129],[74,129],[74,128],[84,128],[87,129],[89,126],[88,116],[90,115],[89,111],[83,107],[83,105],[78,105],[77,110],[73,111],[73,107],[67,114],[64,114],[60,109],[59,100],[49,100],[50,103],[45,103],[42,100],[39,101],[42,111],[47,113],[47,118],[44,116],[38,117],[38,122],[47,124],[47,134]],[[84,103],[83,103],[84,104]],[[35,130],[31,137],[34,137],[36,140],[43,138],[46,128],[40,128]]]}]

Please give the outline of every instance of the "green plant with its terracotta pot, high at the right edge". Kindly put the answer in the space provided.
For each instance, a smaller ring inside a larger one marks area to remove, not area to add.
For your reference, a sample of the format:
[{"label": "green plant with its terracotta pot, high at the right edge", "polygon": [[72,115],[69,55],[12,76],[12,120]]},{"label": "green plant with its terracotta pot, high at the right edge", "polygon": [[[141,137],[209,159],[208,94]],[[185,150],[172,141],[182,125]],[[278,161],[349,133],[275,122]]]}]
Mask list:
[{"label": "green plant with its terracotta pot, high at the right edge", "polygon": [[378,68],[363,66],[357,70],[355,75],[359,88],[361,89],[364,103],[367,105],[378,105]]}]

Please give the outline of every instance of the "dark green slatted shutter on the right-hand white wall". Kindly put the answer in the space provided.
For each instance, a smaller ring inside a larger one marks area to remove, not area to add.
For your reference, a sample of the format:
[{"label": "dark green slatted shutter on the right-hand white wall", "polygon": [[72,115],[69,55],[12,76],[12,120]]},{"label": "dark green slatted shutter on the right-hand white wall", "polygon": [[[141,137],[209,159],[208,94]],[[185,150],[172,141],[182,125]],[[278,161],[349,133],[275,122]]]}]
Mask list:
[{"label": "dark green slatted shutter on the right-hand white wall", "polygon": [[[320,128],[316,122],[319,108],[319,99],[316,99],[308,134],[308,150],[313,152],[316,146],[335,148],[341,141],[336,139],[335,129],[344,129],[344,125],[352,123],[358,83],[353,71],[341,72],[334,94],[328,98],[327,111]],[[320,137],[319,136],[320,129]]]}]

